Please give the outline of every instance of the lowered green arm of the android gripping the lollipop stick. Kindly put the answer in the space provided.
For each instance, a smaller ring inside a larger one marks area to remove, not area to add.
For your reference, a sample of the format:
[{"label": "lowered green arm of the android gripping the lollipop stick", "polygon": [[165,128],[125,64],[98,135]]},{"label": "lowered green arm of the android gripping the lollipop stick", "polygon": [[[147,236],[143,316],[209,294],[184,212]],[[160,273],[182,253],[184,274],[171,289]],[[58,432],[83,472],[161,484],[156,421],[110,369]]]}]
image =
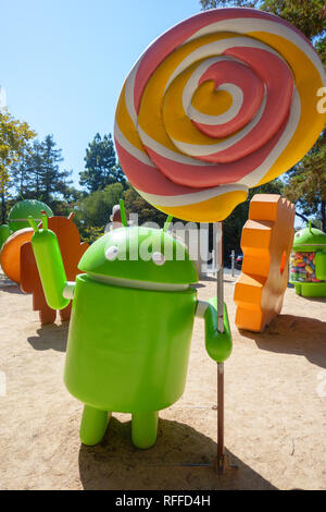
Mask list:
[{"label": "lowered green arm of the android gripping the lollipop stick", "polygon": [[212,359],[216,363],[226,361],[233,350],[231,332],[228,321],[227,308],[224,303],[223,319],[224,332],[218,332],[217,328],[217,300],[210,298],[209,302],[198,301],[196,316],[205,321],[205,345]]}]

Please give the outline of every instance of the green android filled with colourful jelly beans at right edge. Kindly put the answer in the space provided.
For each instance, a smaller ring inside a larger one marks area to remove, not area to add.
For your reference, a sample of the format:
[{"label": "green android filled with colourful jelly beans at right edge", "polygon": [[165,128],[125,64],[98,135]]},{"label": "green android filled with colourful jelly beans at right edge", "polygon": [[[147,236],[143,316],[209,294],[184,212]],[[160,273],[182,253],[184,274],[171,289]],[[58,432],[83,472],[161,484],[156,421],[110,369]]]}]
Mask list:
[{"label": "green android filled with colourful jelly beans at right edge", "polygon": [[323,231],[309,225],[296,233],[290,282],[299,295],[326,296],[326,234]]}]

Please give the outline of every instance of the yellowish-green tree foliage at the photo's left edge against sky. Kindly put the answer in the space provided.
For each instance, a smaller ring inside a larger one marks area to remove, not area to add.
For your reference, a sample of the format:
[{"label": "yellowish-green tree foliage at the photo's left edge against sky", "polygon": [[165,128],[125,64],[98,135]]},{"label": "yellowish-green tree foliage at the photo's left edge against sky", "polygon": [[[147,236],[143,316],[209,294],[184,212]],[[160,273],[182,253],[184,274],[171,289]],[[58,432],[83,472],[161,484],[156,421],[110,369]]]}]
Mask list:
[{"label": "yellowish-green tree foliage at the photo's left edge against sky", "polygon": [[2,222],[5,222],[11,166],[21,160],[28,141],[35,137],[35,132],[27,123],[14,119],[5,109],[0,111],[0,195]]}]

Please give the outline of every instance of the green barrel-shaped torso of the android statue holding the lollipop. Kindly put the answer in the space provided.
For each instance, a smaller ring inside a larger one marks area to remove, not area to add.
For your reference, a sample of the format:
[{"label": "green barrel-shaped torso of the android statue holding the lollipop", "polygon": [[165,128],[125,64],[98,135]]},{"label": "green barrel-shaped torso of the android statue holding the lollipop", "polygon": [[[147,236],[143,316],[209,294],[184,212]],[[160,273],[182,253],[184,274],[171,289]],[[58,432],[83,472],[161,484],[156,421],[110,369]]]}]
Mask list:
[{"label": "green barrel-shaped torso of the android statue holding the lollipop", "polygon": [[[103,411],[165,409],[184,392],[197,291],[189,284],[178,284],[181,289],[175,290],[175,284],[162,283],[163,269],[152,261],[123,261],[134,278],[141,277],[139,281],[120,279],[118,269],[112,277],[120,261],[116,267],[103,264],[110,268],[110,277],[95,275],[93,267],[97,272],[104,269],[98,254],[95,258],[96,264],[93,259],[89,264],[91,272],[76,280],[65,385],[82,402]],[[142,266],[147,269],[143,275]],[[79,268],[89,269],[83,263]],[[150,269],[156,272],[156,282],[143,280],[146,275],[150,277]]]}]

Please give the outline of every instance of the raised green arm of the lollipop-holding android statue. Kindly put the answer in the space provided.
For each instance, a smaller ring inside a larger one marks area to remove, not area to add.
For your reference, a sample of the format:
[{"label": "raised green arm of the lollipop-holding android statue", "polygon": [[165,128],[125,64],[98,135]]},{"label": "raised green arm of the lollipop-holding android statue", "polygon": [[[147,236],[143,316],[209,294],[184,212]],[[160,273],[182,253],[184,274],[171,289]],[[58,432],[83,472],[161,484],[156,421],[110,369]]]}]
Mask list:
[{"label": "raised green arm of the lollipop-holding android statue", "polygon": [[41,230],[32,217],[29,223],[35,231],[32,246],[47,303],[52,309],[64,309],[74,295],[75,283],[66,280],[57,235],[48,229],[46,215]]}]

